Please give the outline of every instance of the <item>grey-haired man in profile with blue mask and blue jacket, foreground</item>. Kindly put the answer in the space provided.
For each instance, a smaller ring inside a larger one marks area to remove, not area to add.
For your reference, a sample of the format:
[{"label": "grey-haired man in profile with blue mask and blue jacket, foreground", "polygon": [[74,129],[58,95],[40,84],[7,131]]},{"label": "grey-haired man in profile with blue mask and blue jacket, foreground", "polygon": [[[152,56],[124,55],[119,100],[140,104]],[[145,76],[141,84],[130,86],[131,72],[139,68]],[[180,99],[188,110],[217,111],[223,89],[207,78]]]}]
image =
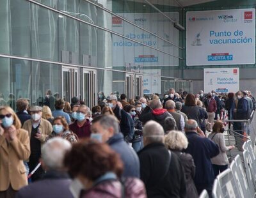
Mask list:
[{"label": "grey-haired man in profile with blue mask and blue jacket, foreground", "polygon": [[124,162],[124,177],[140,178],[138,156],[124,141],[124,135],[120,133],[119,123],[115,116],[98,116],[93,119],[91,131],[91,138],[107,142],[116,153],[120,154]]}]

